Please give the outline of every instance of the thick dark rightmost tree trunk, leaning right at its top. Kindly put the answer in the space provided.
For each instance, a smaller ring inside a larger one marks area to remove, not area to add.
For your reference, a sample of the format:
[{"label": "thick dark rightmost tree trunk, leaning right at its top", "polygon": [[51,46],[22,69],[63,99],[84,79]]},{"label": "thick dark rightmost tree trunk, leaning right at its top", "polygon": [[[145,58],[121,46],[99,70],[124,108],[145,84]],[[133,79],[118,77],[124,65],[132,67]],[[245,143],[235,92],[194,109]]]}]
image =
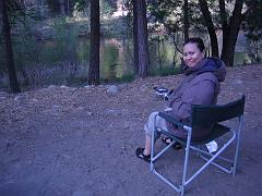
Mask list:
[{"label": "thick dark rightmost tree trunk, leaning right at its top", "polygon": [[221,59],[228,66],[234,65],[234,54],[237,42],[238,33],[242,22],[242,7],[243,0],[237,0],[234,7],[233,15],[229,19],[228,25],[224,28],[223,32],[223,49]]}]

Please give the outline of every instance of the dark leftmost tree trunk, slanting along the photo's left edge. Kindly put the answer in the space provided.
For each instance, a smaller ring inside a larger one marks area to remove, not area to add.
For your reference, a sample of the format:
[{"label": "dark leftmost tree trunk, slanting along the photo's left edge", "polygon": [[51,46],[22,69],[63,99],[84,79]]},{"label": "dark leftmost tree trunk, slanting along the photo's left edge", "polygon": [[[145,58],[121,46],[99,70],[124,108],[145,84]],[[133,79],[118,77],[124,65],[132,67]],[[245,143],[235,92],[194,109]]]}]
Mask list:
[{"label": "dark leftmost tree trunk, slanting along the photo's left edge", "polygon": [[13,59],[13,48],[11,41],[11,26],[9,21],[9,13],[8,13],[8,2],[7,0],[1,0],[0,2],[0,11],[2,13],[2,32],[3,32],[3,40],[5,45],[5,54],[7,54],[7,69],[9,72],[9,81],[10,81],[10,88],[12,93],[20,93],[20,86],[16,77],[14,59]]}]

